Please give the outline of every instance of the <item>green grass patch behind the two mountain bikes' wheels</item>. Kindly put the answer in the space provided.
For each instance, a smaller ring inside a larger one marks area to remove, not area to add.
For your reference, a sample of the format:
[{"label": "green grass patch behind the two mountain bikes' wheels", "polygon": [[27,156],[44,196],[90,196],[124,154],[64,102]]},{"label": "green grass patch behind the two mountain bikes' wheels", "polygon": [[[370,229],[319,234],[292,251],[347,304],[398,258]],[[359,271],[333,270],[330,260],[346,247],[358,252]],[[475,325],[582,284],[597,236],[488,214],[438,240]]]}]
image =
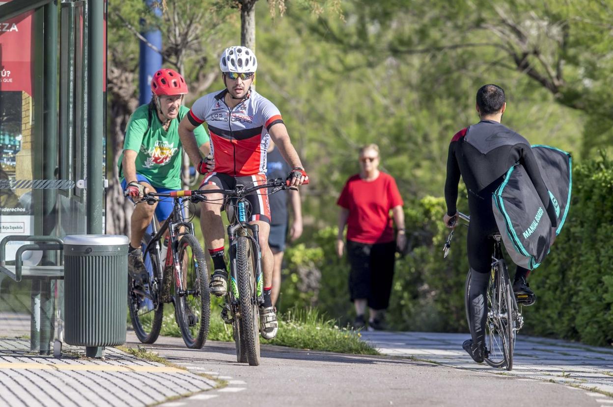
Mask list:
[{"label": "green grass patch behind the two mountain bikes' wheels", "polygon": [[[216,301],[211,302],[211,319],[207,340],[234,342],[232,326],[224,323]],[[289,310],[279,316],[279,332],[273,340],[262,343],[289,346],[290,348],[330,351],[338,353],[379,354],[368,343],[360,340],[361,334],[351,329],[340,328],[333,319],[326,319],[317,310]],[[181,337],[181,330],[175,322],[172,305],[165,305],[161,334]]]}]

